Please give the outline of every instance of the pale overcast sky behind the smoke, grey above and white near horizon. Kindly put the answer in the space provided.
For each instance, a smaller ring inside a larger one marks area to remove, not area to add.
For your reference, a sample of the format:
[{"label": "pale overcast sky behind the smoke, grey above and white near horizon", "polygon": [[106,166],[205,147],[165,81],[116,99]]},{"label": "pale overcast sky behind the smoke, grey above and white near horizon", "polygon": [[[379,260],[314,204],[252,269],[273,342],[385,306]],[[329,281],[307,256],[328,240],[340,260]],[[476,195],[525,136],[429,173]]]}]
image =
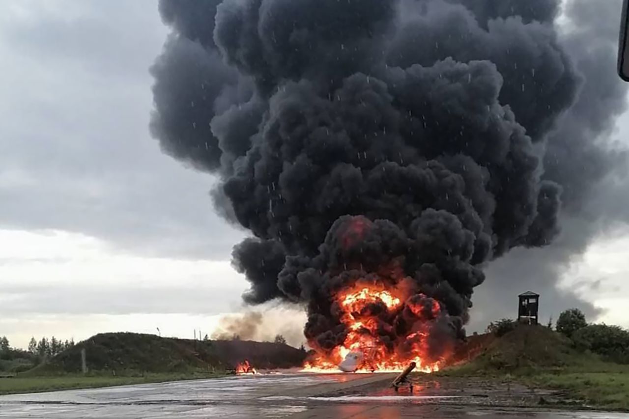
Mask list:
[{"label": "pale overcast sky behind the smoke, grey above and white near horizon", "polygon": [[[247,282],[230,253],[245,233],[214,215],[213,179],[148,134],[148,67],[166,35],[153,0],[0,2],[0,335],[14,345],[157,327],[191,337],[242,310]],[[628,245],[619,226],[562,284],[626,327]],[[500,274],[477,289],[472,330],[496,316]]]}]

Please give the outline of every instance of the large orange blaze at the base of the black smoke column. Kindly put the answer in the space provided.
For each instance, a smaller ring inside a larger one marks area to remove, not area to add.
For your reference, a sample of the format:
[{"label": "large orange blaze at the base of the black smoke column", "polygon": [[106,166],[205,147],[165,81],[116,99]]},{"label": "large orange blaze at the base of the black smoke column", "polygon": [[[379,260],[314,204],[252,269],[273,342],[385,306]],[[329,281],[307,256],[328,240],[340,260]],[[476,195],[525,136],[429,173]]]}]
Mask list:
[{"label": "large orange blaze at the base of the black smoke column", "polygon": [[[363,233],[372,226],[365,222],[364,228]],[[439,316],[448,321],[440,304],[421,294],[399,267],[389,271],[390,276],[359,277],[333,291],[330,311],[337,313],[345,337],[331,351],[315,347],[317,354],[308,360],[306,371],[401,371],[409,362],[423,372],[439,369],[451,346],[448,336],[441,343],[440,358],[431,355],[426,342]]]}]

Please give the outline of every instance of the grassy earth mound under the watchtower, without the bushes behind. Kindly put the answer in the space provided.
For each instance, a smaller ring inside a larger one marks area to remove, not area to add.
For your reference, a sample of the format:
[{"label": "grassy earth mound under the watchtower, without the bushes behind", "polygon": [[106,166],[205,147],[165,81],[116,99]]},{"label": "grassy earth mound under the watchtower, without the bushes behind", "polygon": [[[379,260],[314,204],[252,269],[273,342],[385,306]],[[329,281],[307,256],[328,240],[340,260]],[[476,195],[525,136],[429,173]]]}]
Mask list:
[{"label": "grassy earth mound under the watchtower, without the bushes behind", "polygon": [[521,383],[560,391],[560,405],[629,411],[629,365],[576,350],[569,339],[540,326],[518,326],[474,359],[435,376]]}]

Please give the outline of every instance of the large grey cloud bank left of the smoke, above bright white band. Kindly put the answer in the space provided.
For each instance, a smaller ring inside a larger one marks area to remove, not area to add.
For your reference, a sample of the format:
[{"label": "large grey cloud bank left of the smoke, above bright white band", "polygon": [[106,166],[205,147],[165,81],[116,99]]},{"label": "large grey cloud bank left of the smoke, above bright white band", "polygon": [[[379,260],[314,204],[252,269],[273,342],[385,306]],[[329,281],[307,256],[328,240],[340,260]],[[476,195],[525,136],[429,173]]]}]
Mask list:
[{"label": "large grey cloud bank left of the smoke, above bright white band", "polygon": [[0,228],[194,259],[226,259],[244,236],[211,211],[213,178],[164,157],[148,133],[148,68],[166,33],[155,6],[42,8],[0,29]]}]

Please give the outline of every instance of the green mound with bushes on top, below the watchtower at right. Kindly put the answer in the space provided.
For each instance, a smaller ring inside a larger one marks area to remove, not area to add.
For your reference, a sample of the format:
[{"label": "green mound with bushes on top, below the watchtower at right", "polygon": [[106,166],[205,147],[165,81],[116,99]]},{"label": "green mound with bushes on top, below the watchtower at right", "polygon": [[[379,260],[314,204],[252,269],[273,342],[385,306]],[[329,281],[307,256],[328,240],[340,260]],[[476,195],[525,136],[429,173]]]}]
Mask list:
[{"label": "green mound with bushes on top, below the watchtower at right", "polygon": [[562,313],[557,332],[510,320],[491,323],[487,330],[491,333],[470,337],[464,347],[463,352],[475,351],[469,362],[438,374],[517,381],[560,391],[560,404],[629,411],[627,330],[587,325],[574,309]]}]

